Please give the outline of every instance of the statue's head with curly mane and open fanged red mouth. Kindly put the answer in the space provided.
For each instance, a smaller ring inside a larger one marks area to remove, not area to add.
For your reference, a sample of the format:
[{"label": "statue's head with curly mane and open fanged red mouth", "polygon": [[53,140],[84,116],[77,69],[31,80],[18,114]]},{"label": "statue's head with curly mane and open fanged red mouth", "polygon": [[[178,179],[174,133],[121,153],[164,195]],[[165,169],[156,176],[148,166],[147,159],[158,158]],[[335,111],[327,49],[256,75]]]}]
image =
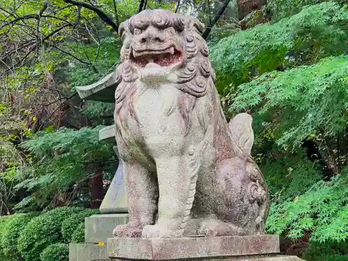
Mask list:
[{"label": "statue's head with curly mane and open fanged red mouth", "polygon": [[214,71],[207,44],[200,35],[203,29],[195,17],[161,9],[143,10],[122,22],[122,64],[118,68],[122,83],[172,83],[184,93],[205,95]]}]

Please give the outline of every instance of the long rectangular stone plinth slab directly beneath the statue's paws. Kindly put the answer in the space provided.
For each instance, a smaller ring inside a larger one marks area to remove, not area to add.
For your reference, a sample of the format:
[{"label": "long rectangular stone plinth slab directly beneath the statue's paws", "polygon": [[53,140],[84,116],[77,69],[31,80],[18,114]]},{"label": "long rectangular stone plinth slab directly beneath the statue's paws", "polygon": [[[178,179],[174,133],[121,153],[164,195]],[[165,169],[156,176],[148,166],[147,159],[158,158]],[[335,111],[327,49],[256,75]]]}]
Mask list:
[{"label": "long rectangular stone plinth slab directly beneath the statue's paws", "polygon": [[175,260],[279,253],[277,235],[108,239],[109,258]]}]

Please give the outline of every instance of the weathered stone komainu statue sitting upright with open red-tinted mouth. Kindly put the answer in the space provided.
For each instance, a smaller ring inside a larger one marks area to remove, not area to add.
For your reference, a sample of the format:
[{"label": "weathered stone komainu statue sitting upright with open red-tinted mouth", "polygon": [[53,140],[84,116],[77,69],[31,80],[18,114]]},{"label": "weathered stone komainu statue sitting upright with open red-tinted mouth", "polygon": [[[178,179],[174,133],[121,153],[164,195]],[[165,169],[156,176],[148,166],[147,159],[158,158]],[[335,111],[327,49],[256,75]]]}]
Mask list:
[{"label": "weathered stone komainu statue sitting upright with open red-tinted mouth", "polygon": [[115,122],[129,223],[117,237],[264,233],[269,191],[250,156],[251,116],[226,122],[202,31],[169,10],[120,25]]}]

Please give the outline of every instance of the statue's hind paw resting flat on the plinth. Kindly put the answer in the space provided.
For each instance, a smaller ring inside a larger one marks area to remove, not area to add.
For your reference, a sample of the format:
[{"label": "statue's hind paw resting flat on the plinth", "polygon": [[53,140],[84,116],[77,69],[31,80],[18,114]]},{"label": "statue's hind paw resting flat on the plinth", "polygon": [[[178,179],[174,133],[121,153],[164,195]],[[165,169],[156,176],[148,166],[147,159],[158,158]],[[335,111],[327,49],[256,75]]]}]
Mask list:
[{"label": "statue's hind paw resting flat on the plinth", "polygon": [[205,235],[205,237],[244,235],[244,230],[223,221],[209,220],[200,223],[198,235]]}]

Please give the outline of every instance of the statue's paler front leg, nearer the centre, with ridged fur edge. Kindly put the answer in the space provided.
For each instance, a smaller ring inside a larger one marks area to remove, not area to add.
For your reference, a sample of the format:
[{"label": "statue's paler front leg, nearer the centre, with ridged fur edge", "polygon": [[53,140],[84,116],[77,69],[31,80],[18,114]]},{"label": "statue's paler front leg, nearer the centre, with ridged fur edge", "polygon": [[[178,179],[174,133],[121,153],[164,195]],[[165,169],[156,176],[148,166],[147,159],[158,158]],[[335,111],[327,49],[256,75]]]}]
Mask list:
[{"label": "statue's paler front leg, nearer the centre, with ridged fur edge", "polygon": [[159,183],[159,218],[142,237],[182,237],[191,212],[196,179],[188,155],[155,159]]}]

